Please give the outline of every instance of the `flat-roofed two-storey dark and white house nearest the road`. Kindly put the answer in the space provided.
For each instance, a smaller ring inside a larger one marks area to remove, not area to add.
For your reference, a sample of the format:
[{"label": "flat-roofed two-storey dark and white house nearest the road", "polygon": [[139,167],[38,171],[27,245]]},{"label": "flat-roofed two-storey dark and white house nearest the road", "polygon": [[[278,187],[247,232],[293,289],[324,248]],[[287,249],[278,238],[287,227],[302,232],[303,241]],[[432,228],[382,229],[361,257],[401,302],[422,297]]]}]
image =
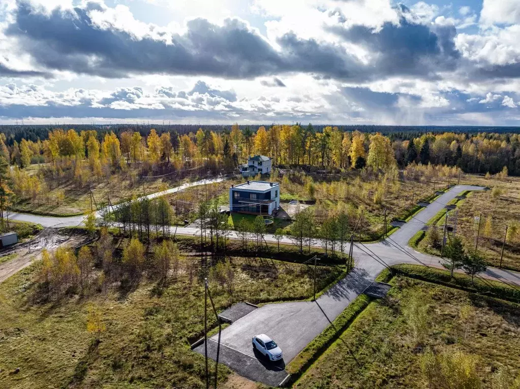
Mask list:
[{"label": "flat-roofed two-storey dark and white house nearest the road", "polygon": [[280,206],[280,184],[248,181],[229,188],[231,212],[270,215]]}]

